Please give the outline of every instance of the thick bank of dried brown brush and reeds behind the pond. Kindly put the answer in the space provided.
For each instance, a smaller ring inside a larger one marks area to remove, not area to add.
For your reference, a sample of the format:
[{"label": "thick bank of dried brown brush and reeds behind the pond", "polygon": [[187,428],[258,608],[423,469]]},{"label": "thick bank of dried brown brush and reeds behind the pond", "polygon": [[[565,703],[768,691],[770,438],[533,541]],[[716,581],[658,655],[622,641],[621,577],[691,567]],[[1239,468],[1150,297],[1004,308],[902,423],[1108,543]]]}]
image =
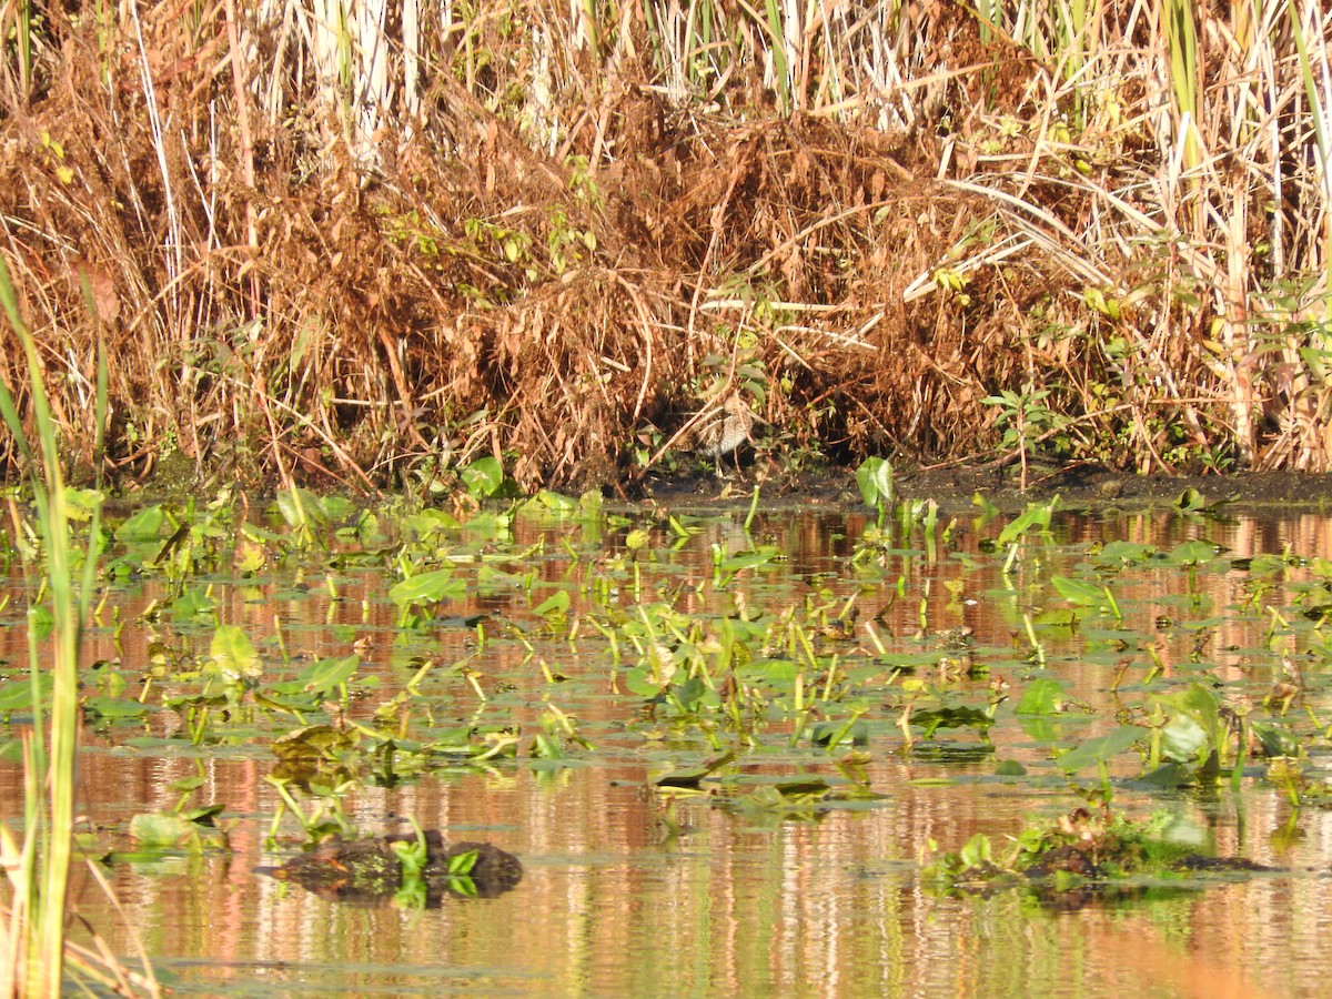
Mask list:
[{"label": "thick bank of dried brown brush and reeds behind the pond", "polygon": [[1169,0],[1042,52],[952,3],[781,47],[726,4],[35,7],[0,254],[83,464],[95,329],[132,480],[622,482],[737,392],[783,454],[1332,461],[1317,11],[1301,63],[1187,8],[1184,119]]}]

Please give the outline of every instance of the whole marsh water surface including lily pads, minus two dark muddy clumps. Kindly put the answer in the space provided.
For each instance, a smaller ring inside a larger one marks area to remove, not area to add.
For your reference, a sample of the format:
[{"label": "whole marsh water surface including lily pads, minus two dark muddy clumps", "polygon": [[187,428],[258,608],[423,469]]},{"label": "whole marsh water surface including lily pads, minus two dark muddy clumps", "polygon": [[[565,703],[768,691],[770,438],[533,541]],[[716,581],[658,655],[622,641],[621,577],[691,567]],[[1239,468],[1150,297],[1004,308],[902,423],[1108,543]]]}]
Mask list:
[{"label": "whole marsh water surface including lily pads, minus two dark muddy clumps", "polygon": [[[169,558],[206,518],[124,531],[89,634],[81,770],[119,911],[85,876],[80,914],[180,995],[1325,992],[1327,514],[1056,506],[999,545],[1014,517],[967,507],[932,530],[747,514],[354,511],[296,551],[256,511],[254,530],[196,530]],[[409,562],[461,586],[396,599]],[[0,638],[11,679],[21,605]],[[220,625],[253,645],[242,679],[210,665]],[[293,679],[330,661],[354,666],[345,686],[300,702],[318,683]],[[1019,711],[1040,679],[1054,706]],[[1259,751],[1233,778],[1143,779],[1152,726],[1199,689],[1281,734],[1297,791]],[[1144,743],[1106,762],[1118,814],[1271,870],[1063,894],[927,876],[976,832],[999,852],[1087,806],[1096,769],[1056,757],[1124,725]],[[312,727],[346,738],[282,771],[274,743]],[[8,821],[21,794],[5,763]],[[186,798],[220,806],[206,835],[132,835]],[[514,854],[522,880],[370,906],[258,870],[329,825],[412,819]]]}]

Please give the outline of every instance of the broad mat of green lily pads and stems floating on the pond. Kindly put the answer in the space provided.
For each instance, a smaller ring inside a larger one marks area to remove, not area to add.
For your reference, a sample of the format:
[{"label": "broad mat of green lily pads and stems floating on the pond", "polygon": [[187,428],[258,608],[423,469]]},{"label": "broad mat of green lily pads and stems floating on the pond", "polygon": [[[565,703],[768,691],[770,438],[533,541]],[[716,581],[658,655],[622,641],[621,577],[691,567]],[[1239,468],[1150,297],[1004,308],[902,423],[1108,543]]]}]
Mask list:
[{"label": "broad mat of green lily pads and stems floating on the pond", "polygon": [[[903,497],[882,465],[860,486],[859,510],[786,513],[71,490],[105,507],[71,539],[101,563],[79,847],[164,888],[244,855],[252,880],[421,912],[606,863],[623,847],[531,867],[529,836],[622,815],[639,855],[715,876],[734,860],[695,844],[718,830],[891,823],[860,863],[939,904],[1320,876],[1283,856],[1332,802],[1321,542],[1200,496],[1010,515]],[[39,542],[15,513],[16,561]],[[48,638],[45,598],[11,575],[0,635]],[[16,761],[47,691],[0,655]],[[120,790],[141,767],[170,779]],[[488,818],[518,786],[519,815]],[[912,821],[931,795],[964,818]],[[1224,831],[1251,810],[1256,851]]]}]

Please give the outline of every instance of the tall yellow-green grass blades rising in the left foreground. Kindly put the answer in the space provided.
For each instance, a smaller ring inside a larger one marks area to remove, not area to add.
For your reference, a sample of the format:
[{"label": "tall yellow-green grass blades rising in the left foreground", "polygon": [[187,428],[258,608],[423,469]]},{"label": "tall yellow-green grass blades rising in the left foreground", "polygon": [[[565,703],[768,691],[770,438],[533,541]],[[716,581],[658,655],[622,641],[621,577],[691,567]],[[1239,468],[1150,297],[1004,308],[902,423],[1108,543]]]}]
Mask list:
[{"label": "tall yellow-green grass blades rising in the left foreground", "polygon": [[[55,623],[52,645],[40,647],[36,607],[29,607],[28,655],[32,677],[32,733],[25,742],[24,831],[21,844],[0,827],[0,852],[13,884],[13,906],[4,926],[8,959],[0,987],[8,995],[56,996],[61,992],[65,956],[65,896],[73,850],[75,787],[79,751],[79,650],[97,565],[100,515],[93,513],[81,582],[75,586],[76,559],[71,550],[65,484],[60,470],[56,421],[41,377],[41,361],[32,333],[19,314],[9,270],[0,258],[0,305],[23,349],[28,373],[33,424],[40,454],[35,454],[19,417],[9,386],[0,382],[0,414],[13,434],[27,465],[41,537],[45,591]],[[97,445],[107,412],[107,361],[99,338]],[[100,462],[99,462],[100,464]],[[15,523],[17,511],[11,507]],[[24,569],[32,570],[27,549]],[[45,657],[45,658],[44,658]],[[51,677],[51,705],[43,697],[43,675]]]}]

